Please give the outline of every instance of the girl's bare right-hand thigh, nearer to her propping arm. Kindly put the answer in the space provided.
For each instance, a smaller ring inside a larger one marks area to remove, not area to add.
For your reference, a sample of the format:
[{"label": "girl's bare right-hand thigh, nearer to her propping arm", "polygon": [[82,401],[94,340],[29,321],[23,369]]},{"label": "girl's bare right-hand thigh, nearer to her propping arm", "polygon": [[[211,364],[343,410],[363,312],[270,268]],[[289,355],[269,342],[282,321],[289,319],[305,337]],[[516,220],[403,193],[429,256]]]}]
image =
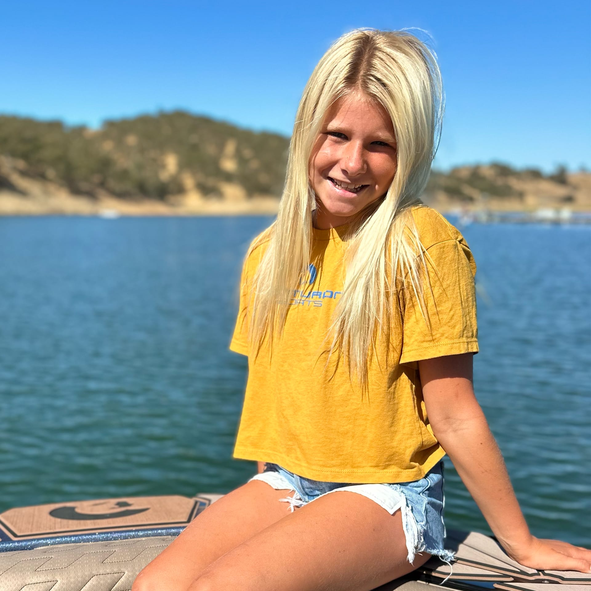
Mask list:
[{"label": "girl's bare right-hand thigh, nearer to her propping arm", "polygon": [[363,591],[409,573],[400,511],[355,492],[322,496],[236,546],[189,591]]}]

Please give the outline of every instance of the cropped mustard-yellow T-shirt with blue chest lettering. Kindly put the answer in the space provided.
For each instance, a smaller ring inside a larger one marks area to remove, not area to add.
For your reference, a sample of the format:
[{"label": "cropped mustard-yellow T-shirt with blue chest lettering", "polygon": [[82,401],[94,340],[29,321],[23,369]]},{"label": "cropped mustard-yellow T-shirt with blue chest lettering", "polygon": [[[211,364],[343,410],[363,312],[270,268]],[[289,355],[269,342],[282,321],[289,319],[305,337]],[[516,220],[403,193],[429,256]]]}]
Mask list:
[{"label": "cropped mustard-yellow T-shirt with blue chest lettering", "polygon": [[251,252],[230,343],[249,356],[234,457],[277,463],[314,480],[380,483],[423,478],[444,456],[428,421],[417,361],[478,352],[476,265],[443,216],[424,206],[414,207],[413,216],[428,254],[431,332],[416,303],[407,301],[391,319],[388,342],[378,341],[368,368],[369,395],[362,396],[349,378],[346,363],[326,369],[323,353],[343,288],[344,228],[313,229],[312,260],[320,264],[310,267],[309,283],[294,291],[272,356],[262,349],[256,360],[249,355],[246,304],[267,243]]}]

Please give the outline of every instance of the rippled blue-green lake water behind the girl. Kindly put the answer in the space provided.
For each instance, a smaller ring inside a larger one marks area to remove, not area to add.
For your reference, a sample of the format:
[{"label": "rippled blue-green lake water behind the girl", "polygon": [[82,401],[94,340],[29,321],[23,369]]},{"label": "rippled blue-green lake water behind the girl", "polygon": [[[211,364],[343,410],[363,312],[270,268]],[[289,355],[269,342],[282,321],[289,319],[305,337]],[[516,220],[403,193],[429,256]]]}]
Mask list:
[{"label": "rippled blue-green lake water behind the girl", "polygon": [[[453,221],[453,220],[452,220]],[[0,511],[228,492],[246,359],[228,350],[269,217],[0,219]],[[591,232],[471,225],[475,387],[534,534],[591,542]],[[447,462],[448,527],[488,532]]]}]

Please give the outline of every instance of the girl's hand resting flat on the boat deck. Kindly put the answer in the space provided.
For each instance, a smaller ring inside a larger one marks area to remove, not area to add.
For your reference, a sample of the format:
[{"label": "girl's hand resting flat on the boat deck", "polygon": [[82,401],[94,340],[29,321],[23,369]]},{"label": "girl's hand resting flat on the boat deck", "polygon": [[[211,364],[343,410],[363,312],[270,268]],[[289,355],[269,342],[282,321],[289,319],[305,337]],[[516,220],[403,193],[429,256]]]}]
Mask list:
[{"label": "girl's hand resting flat on the boat deck", "polygon": [[532,536],[527,547],[508,550],[507,554],[531,569],[591,572],[591,550],[560,540],[541,540]]}]

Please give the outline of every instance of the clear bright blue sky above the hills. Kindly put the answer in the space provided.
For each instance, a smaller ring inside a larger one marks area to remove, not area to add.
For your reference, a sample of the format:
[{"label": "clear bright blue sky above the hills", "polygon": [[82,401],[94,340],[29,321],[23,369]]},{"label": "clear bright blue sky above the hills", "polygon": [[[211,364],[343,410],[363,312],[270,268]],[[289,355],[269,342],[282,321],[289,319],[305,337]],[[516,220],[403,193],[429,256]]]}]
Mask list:
[{"label": "clear bright blue sky above the hills", "polygon": [[591,168],[588,1],[5,2],[0,113],[99,126],[186,109],[289,135],[314,65],[356,27],[433,36],[438,168]]}]

